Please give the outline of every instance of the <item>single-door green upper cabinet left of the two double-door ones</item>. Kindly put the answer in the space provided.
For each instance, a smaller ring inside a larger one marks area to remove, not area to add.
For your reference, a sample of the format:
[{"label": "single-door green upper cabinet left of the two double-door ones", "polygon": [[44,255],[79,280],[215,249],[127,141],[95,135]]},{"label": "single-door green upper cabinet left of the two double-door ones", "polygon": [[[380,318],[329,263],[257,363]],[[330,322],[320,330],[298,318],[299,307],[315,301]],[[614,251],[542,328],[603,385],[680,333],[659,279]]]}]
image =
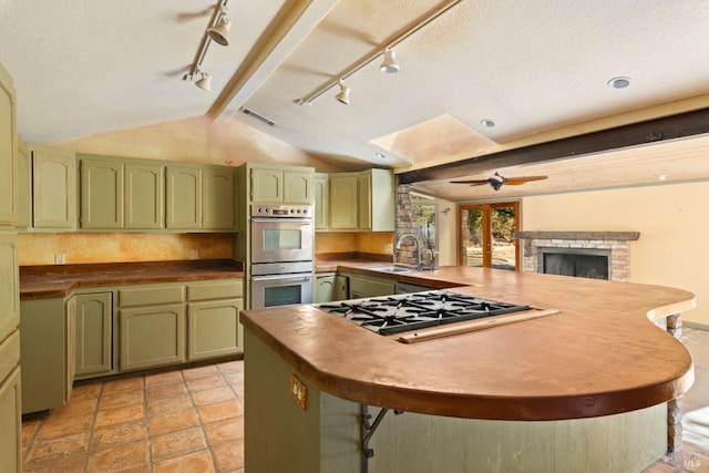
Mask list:
[{"label": "single-door green upper cabinet left of the two double-door ones", "polygon": [[39,232],[76,229],[76,156],[37,144],[32,156],[32,228]]}]

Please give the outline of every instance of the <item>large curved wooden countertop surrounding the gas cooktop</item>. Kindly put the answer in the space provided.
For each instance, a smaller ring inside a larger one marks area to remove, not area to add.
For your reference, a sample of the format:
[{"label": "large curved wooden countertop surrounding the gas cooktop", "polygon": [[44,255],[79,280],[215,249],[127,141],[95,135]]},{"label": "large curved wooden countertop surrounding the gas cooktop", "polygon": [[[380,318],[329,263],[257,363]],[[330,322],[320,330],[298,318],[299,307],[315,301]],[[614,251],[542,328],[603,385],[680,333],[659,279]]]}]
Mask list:
[{"label": "large curved wooden countertop surrounding the gas cooktop", "polygon": [[[368,273],[359,263],[339,269]],[[321,391],[408,412],[580,419],[659,404],[693,382],[689,352],[650,321],[692,308],[685,290],[470,267],[369,274],[561,313],[410,345],[309,305],[242,321]]]}]

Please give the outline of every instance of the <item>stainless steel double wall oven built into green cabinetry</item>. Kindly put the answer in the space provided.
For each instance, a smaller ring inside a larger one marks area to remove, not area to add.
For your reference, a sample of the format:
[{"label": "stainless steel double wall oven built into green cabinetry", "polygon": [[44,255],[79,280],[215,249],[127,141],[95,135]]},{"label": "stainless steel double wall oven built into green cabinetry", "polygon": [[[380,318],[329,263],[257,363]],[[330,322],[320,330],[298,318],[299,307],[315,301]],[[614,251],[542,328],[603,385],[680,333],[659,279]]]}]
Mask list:
[{"label": "stainless steel double wall oven built into green cabinetry", "polygon": [[314,232],[310,205],[251,204],[251,309],[312,301]]}]

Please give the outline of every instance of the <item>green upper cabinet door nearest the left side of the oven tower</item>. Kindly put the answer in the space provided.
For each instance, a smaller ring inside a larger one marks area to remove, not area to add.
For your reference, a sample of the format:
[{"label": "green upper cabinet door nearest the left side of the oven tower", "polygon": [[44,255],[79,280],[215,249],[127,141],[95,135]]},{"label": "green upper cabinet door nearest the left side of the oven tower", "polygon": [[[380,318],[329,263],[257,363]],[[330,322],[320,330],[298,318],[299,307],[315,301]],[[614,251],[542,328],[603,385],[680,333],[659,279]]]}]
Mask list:
[{"label": "green upper cabinet door nearest the left side of the oven tower", "polygon": [[202,228],[234,230],[234,171],[204,169],[202,184]]}]

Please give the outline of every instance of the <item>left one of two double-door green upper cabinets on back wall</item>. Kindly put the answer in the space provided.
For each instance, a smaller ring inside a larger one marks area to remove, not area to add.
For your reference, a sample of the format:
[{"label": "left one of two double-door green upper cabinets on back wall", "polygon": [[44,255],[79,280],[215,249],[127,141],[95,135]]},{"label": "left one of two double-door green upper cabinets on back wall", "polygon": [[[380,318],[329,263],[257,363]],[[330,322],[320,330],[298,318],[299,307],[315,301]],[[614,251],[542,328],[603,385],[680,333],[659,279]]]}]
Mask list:
[{"label": "left one of two double-door green upper cabinets on back wall", "polygon": [[81,161],[81,228],[160,229],[165,167],[121,160]]}]

